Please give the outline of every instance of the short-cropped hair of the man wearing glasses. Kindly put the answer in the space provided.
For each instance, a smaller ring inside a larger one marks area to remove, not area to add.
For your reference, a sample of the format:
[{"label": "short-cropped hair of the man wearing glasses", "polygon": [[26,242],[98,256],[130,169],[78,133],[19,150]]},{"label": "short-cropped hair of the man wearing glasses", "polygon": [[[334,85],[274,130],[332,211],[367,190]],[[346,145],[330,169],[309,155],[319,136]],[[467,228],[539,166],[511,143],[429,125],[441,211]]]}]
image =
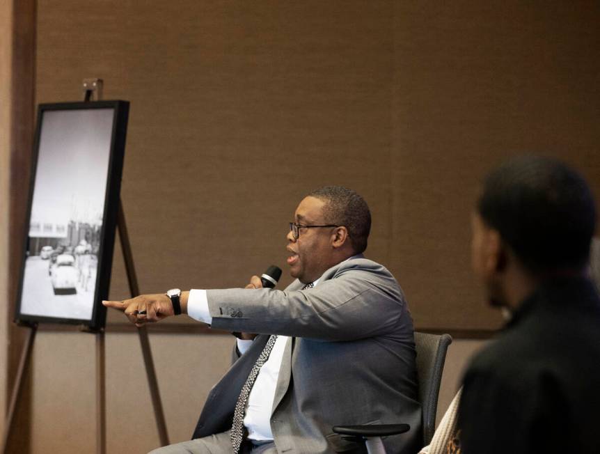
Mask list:
[{"label": "short-cropped hair of the man wearing glasses", "polygon": [[325,186],[312,191],[308,196],[326,201],[324,221],[347,228],[354,253],[362,253],[367,249],[371,212],[364,198],[356,191],[342,186]]}]

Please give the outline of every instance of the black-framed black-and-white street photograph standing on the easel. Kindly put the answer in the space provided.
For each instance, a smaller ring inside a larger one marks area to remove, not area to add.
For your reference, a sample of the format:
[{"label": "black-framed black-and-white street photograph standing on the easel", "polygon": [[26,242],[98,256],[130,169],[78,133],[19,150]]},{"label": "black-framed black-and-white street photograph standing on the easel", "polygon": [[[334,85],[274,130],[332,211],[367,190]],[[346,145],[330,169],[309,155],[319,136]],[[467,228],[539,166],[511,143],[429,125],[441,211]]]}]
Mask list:
[{"label": "black-framed black-and-white street photograph standing on the easel", "polygon": [[15,321],[106,320],[129,102],[40,104]]}]

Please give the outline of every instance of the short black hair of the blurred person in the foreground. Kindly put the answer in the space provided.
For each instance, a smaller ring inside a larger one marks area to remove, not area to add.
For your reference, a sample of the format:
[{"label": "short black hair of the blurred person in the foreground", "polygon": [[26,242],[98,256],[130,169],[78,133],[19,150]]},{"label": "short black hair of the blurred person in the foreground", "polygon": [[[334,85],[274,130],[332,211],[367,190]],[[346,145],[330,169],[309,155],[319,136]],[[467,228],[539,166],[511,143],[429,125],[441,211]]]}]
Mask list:
[{"label": "short black hair of the blurred person in the foreground", "polygon": [[520,156],[484,180],[477,210],[530,272],[580,270],[590,259],[594,197],[558,159]]}]

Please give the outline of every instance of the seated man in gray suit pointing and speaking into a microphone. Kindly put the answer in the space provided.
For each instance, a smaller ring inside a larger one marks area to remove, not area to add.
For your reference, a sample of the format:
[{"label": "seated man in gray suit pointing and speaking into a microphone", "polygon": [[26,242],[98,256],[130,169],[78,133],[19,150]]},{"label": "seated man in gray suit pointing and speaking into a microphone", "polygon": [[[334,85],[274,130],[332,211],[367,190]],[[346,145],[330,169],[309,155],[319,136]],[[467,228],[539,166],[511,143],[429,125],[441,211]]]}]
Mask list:
[{"label": "seated man in gray suit pointing and speaking into a microphone", "polygon": [[[104,303],[137,326],[174,315],[180,305],[213,328],[260,333],[237,340],[239,359],[210,392],[194,439],[156,453],[238,452],[242,430],[239,452],[364,453],[331,427],[368,423],[409,423],[409,432],[384,445],[389,453],[418,451],[413,324],[394,277],[362,255],[370,224],[361,196],[324,187],[301,201],[290,223],[287,264],[296,281],[285,290],[262,288],[253,276],[251,290],[190,290],[175,298],[170,290],[171,297]],[[252,383],[244,386],[246,379]]]}]

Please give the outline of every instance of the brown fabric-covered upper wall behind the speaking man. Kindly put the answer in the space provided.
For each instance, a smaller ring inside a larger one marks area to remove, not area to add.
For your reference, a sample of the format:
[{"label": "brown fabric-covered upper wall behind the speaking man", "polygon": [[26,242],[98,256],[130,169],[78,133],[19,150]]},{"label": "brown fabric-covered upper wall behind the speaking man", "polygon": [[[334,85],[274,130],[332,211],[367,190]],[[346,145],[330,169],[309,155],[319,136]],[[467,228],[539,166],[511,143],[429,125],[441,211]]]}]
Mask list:
[{"label": "brown fabric-covered upper wall behind the speaking man", "polygon": [[[299,199],[342,184],[370,203],[368,256],[418,327],[494,328],[468,253],[484,172],[534,150],[600,182],[599,7],[555,3],[40,0],[37,100],[101,77],[132,102],[122,198],[143,292],[285,268]],[[113,271],[126,297],[118,253]]]}]

